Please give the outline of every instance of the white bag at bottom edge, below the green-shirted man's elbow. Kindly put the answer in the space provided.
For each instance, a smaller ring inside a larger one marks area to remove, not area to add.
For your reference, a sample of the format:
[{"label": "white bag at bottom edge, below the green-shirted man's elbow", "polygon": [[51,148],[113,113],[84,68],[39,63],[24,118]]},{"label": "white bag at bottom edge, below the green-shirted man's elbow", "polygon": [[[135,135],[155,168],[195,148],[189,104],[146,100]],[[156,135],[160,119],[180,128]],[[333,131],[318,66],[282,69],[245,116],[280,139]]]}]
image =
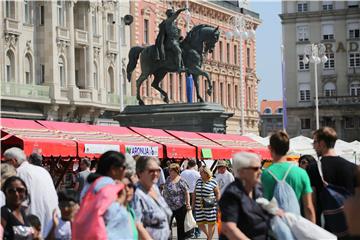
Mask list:
[{"label": "white bag at bottom edge, below the green-shirted man's elbow", "polygon": [[336,235],[326,231],[301,216],[292,213],[285,213],[285,219],[296,239],[337,239]]}]

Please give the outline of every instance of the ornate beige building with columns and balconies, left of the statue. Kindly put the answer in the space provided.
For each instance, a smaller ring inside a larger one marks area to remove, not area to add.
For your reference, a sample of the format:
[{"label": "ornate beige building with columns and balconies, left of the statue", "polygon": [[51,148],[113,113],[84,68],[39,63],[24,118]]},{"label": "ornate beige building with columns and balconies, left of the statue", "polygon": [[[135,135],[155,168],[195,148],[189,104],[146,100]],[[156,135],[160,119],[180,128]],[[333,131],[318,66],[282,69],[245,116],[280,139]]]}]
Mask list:
[{"label": "ornate beige building with columns and balconies, left of the statue", "polygon": [[128,1],[1,1],[2,117],[113,123],[133,102],[128,13]]}]

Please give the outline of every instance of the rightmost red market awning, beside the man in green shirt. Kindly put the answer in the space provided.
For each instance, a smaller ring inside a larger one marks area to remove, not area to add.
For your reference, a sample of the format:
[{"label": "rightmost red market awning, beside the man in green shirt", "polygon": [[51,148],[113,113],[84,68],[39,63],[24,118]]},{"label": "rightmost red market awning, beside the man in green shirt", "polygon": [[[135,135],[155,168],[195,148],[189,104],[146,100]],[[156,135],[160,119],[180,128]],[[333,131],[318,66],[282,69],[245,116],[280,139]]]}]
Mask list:
[{"label": "rightmost red market awning, beside the man in green shirt", "polygon": [[200,135],[217,142],[218,144],[231,148],[232,153],[253,152],[261,156],[262,159],[271,159],[269,150],[256,142],[255,140],[236,134],[219,134],[219,133],[199,133]]}]

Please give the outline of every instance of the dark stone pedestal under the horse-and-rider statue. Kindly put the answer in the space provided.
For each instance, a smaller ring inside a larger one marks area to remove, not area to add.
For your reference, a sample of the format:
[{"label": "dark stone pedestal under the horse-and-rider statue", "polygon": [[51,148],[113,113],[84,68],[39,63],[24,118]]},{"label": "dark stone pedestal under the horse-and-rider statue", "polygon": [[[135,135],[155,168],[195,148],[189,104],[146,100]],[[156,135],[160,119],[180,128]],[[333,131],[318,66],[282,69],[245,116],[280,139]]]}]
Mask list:
[{"label": "dark stone pedestal under the horse-and-rider statue", "polygon": [[232,116],[216,103],[178,103],[127,106],[114,119],[126,127],[226,133],[226,120]]}]

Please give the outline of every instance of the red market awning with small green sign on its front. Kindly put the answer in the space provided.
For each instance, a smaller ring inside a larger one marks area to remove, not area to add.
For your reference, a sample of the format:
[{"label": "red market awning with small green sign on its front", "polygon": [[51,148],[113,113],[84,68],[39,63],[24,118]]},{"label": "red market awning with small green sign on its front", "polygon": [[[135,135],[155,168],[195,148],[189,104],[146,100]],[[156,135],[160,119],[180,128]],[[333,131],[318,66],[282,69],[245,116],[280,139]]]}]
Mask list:
[{"label": "red market awning with small green sign on its front", "polygon": [[165,131],[174,137],[195,146],[197,148],[197,157],[199,159],[228,159],[231,157],[231,149],[223,147],[196,132]]}]

